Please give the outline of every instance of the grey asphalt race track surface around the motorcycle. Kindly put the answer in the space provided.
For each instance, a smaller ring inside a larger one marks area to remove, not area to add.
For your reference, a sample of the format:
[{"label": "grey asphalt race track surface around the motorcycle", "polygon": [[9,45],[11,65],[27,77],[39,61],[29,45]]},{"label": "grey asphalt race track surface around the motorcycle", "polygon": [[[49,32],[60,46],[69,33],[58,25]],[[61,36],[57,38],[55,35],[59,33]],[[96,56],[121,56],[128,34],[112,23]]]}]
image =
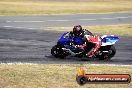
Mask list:
[{"label": "grey asphalt race track surface around the motorcycle", "polygon": [[117,53],[111,61],[80,61],[80,58],[54,58],[50,49],[63,32],[44,30],[47,27],[104,25],[132,23],[132,13],[56,15],[56,16],[1,16],[0,63],[42,64],[125,64],[132,65],[132,38],[120,36],[115,45]]}]

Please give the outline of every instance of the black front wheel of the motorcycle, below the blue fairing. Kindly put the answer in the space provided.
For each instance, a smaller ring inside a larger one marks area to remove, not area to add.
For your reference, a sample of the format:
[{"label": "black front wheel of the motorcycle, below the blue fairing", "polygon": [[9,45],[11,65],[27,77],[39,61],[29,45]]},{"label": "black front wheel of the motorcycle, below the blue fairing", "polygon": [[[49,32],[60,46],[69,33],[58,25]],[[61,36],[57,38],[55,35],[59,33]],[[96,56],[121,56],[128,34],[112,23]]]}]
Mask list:
[{"label": "black front wheel of the motorcycle, below the blue fairing", "polygon": [[56,57],[56,58],[64,58],[64,51],[62,50],[62,48],[58,45],[55,45],[52,47],[51,49],[51,54]]}]

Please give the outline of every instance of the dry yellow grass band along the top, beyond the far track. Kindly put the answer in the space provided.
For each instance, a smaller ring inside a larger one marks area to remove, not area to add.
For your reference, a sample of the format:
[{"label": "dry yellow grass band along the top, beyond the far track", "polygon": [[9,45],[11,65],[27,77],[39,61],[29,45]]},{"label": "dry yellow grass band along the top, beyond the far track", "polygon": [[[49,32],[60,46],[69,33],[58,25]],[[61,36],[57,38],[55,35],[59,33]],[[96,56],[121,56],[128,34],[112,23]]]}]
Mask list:
[{"label": "dry yellow grass band along the top, beyond the far track", "polygon": [[45,0],[0,0],[0,15],[51,15],[132,12],[132,0],[50,2]]}]

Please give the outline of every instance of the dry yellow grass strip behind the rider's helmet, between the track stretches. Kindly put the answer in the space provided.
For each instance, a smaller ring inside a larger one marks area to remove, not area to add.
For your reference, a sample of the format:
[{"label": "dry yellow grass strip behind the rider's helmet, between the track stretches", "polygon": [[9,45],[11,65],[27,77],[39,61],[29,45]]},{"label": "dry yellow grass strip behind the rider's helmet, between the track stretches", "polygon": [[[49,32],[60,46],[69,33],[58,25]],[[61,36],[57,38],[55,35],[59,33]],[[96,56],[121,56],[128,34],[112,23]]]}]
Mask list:
[{"label": "dry yellow grass strip behind the rider's helmet, between the track stretches", "polygon": [[[132,36],[132,24],[84,26],[93,33]],[[48,30],[72,31],[72,27],[49,27]]]}]

